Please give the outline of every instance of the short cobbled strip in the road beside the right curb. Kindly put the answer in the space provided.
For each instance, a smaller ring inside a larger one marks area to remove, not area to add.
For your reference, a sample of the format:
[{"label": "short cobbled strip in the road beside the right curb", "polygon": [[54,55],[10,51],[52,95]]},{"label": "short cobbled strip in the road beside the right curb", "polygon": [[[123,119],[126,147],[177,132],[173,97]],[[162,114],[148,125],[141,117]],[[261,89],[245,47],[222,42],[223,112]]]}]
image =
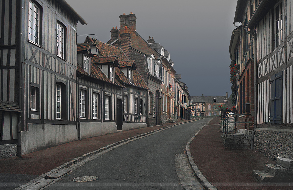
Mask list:
[{"label": "short cobbled strip in the road beside the right curb", "polygon": [[202,184],[196,179],[185,154],[175,155],[175,169],[181,185],[186,190],[203,190]]}]

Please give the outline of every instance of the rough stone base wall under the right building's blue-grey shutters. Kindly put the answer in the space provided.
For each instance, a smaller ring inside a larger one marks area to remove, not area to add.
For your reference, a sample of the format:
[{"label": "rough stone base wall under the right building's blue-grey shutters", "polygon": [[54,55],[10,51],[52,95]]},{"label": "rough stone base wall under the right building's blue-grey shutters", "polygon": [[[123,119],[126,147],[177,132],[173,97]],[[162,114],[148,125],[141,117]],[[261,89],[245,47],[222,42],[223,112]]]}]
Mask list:
[{"label": "rough stone base wall under the right building's blue-grey shutters", "polygon": [[253,149],[277,160],[277,157],[293,158],[293,130],[258,128],[255,131]]}]

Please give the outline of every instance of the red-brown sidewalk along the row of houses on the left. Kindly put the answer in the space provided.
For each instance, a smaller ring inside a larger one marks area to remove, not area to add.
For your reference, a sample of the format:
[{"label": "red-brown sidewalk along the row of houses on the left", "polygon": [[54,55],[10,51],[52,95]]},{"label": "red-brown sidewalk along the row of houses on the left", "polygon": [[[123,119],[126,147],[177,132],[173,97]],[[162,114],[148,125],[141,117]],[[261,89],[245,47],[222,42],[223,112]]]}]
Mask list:
[{"label": "red-brown sidewalk along the row of houses on the left", "polygon": [[166,126],[193,120],[179,119],[176,123],[167,123],[164,124],[164,126],[144,127],[140,129],[121,131],[118,133],[112,133],[93,138],[86,138],[81,141],[73,141],[44,150],[39,150],[30,154],[23,155],[22,157],[1,159],[0,173],[41,175],[66,162],[69,162],[74,158],[78,158],[86,153],[92,152],[99,148],[103,148],[112,143],[122,141],[124,139],[134,137],[143,133],[148,133],[156,129],[161,129]]}]

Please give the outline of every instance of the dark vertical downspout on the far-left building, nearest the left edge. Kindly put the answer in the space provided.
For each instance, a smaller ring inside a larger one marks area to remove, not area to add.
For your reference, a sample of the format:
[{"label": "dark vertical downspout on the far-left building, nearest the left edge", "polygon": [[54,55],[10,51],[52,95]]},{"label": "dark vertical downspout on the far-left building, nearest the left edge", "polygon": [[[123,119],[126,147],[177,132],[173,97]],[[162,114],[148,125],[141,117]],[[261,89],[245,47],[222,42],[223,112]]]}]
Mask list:
[{"label": "dark vertical downspout on the far-left building, nearest the left edge", "polygon": [[[18,70],[19,70],[19,81],[18,81],[18,106],[21,108],[21,92],[22,92],[22,0],[19,1],[19,41],[18,41]],[[17,124],[17,156],[21,156],[21,115],[23,112],[20,112],[18,115],[18,124]]]}]

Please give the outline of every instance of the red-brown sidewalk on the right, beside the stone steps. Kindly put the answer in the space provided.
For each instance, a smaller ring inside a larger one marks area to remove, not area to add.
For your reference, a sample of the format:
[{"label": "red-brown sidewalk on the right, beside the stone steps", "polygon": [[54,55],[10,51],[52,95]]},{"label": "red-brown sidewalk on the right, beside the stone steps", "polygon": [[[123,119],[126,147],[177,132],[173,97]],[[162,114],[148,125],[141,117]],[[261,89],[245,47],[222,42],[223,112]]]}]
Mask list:
[{"label": "red-brown sidewalk on the right, beside the stone steps", "polygon": [[270,187],[256,187],[255,185],[260,183],[255,179],[252,171],[263,170],[265,163],[276,162],[255,150],[225,149],[219,126],[219,118],[214,118],[190,143],[195,164],[211,184],[219,190],[293,189],[276,187],[274,184]]}]

